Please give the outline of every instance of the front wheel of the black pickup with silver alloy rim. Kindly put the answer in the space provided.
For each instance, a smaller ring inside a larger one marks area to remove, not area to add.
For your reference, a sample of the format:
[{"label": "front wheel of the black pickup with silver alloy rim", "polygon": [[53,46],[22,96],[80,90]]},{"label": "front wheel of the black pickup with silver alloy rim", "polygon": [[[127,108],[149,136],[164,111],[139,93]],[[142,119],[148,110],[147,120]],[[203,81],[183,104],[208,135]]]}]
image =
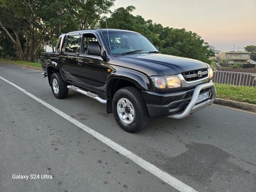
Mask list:
[{"label": "front wheel of the black pickup with silver alloy rim", "polygon": [[113,97],[112,109],[116,123],[127,132],[138,132],[148,124],[147,107],[137,88],[118,90]]}]

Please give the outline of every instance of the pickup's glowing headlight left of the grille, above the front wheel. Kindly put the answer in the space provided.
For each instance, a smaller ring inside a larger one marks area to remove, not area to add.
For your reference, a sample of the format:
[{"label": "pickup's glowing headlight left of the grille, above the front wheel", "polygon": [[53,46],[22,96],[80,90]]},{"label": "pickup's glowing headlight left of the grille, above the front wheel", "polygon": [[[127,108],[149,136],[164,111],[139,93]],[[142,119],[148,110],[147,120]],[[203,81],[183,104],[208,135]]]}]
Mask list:
[{"label": "pickup's glowing headlight left of the grille, above the front wheel", "polygon": [[156,76],[151,77],[153,84],[158,89],[180,88],[179,76]]}]

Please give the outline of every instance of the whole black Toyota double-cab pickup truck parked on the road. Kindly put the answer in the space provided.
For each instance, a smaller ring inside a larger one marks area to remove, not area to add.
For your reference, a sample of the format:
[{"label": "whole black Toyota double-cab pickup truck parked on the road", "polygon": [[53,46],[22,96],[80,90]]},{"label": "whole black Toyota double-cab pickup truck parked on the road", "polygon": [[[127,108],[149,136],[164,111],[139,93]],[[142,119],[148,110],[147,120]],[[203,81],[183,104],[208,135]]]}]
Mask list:
[{"label": "whole black Toyota double-cab pickup truck parked on the road", "polygon": [[90,29],[60,36],[55,52],[41,54],[44,77],[57,99],[75,90],[106,104],[125,131],[149,118],[184,118],[214,102],[212,68],[161,54],[134,31]]}]

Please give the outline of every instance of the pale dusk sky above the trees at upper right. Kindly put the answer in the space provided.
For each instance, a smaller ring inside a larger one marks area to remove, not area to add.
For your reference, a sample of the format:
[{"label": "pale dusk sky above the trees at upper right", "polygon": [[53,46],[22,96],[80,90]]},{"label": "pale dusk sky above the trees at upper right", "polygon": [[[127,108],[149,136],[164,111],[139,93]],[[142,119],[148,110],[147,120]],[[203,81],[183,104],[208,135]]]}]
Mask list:
[{"label": "pale dusk sky above the trees at upper right", "polygon": [[132,5],[132,15],[163,27],[185,28],[220,51],[244,51],[256,45],[256,0],[116,0],[116,8]]}]

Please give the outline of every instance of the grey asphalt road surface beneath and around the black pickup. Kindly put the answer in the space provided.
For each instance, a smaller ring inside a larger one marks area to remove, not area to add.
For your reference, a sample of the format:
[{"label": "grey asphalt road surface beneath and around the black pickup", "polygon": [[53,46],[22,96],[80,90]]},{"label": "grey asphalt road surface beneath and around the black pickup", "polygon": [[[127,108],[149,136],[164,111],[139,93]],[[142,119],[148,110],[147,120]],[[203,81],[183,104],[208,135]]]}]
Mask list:
[{"label": "grey asphalt road surface beneath and around the black pickup", "polygon": [[40,70],[4,63],[0,98],[0,191],[256,191],[255,113],[214,104],[130,134],[104,104],[55,99]]}]

